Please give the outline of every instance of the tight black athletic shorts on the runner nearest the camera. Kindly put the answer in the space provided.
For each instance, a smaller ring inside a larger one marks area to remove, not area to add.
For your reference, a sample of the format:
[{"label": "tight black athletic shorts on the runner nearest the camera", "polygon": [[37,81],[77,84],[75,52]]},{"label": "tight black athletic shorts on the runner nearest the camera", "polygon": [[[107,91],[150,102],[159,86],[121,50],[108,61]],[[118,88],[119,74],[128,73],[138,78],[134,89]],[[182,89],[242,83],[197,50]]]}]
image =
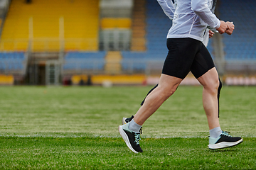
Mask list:
[{"label": "tight black athletic shorts on the runner nearest the camera", "polygon": [[168,55],[164,62],[163,74],[184,79],[188,72],[201,77],[215,67],[213,59],[201,41],[192,38],[168,38]]}]

